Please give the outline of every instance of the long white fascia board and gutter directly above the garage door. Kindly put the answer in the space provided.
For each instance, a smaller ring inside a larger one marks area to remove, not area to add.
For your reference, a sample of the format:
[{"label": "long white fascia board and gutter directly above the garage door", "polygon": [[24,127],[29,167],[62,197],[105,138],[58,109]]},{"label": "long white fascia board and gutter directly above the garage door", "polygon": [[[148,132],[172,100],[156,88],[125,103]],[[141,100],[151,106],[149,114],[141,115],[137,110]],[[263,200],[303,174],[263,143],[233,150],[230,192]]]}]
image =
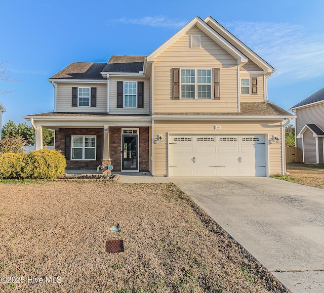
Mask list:
[{"label": "long white fascia board and gutter directly above the garage door", "polygon": [[[294,118],[295,116],[289,118]],[[287,116],[152,115],[153,120],[287,120]]]}]

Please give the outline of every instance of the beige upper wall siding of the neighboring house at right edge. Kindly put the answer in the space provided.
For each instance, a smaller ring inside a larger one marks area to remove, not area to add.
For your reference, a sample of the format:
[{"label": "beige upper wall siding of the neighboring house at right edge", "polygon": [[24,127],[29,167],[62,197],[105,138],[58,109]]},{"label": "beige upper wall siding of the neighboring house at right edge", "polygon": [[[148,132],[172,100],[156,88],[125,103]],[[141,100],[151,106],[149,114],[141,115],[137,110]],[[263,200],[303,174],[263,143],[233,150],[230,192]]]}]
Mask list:
[{"label": "beige upper wall siding of the neighboring house at right edge", "polygon": [[[302,130],[305,124],[317,124],[317,126],[324,130],[324,102],[313,106],[296,109],[296,136]],[[300,154],[303,153],[302,139],[297,139],[297,147]],[[302,159],[302,157],[300,156]]]}]

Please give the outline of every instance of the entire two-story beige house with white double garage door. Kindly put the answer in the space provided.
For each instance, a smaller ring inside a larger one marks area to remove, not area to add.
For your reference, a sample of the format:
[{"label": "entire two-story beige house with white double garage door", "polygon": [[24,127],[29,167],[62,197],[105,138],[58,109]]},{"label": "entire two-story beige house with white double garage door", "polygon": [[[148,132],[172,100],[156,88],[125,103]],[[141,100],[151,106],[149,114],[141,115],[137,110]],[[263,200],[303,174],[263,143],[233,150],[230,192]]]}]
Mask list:
[{"label": "entire two-story beige house with white double garage door", "polygon": [[285,123],[268,102],[275,69],[212,17],[194,18],[148,56],[71,63],[52,76],[54,112],[24,116],[55,130],[67,169],[161,176],[285,173]]}]

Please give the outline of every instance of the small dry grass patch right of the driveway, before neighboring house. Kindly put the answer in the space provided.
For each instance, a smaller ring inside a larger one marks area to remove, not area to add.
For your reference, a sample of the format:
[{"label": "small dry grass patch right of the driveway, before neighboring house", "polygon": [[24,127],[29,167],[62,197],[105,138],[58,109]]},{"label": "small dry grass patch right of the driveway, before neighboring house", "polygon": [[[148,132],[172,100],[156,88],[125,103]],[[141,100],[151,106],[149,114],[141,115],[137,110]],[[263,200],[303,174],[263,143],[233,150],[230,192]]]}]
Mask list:
[{"label": "small dry grass patch right of the driveway, before neighboring house", "polygon": [[324,166],[302,163],[287,164],[289,177],[295,182],[324,189]]}]

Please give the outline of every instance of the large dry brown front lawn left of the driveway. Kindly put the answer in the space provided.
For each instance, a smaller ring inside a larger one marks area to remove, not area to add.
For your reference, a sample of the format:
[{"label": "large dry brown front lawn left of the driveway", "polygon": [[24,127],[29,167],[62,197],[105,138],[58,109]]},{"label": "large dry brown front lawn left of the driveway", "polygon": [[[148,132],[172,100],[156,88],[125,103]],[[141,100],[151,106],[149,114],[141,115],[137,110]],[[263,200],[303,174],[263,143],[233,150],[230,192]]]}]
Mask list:
[{"label": "large dry brown front lawn left of the driveway", "polygon": [[0,291],[286,291],[173,184],[0,183],[0,228]]}]

